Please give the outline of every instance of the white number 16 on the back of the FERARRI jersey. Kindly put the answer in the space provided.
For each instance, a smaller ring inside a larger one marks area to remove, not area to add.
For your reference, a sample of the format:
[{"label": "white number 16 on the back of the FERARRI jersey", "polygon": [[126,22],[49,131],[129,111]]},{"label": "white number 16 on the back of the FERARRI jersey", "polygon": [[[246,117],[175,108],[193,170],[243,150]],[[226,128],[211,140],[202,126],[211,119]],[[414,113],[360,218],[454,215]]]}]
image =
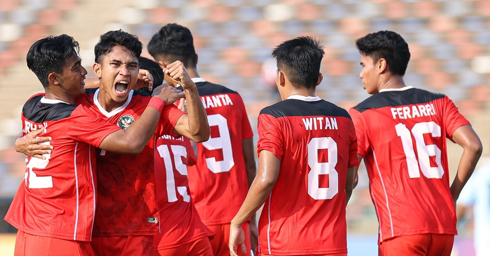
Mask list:
[{"label": "white number 16 on the back of the FERARRI jersey", "polygon": [[[435,144],[426,145],[424,134],[430,134],[433,138],[440,137],[440,126],[434,122],[420,122],[413,125],[409,130],[403,123],[395,125],[396,135],[402,140],[403,151],[407,160],[407,167],[410,178],[419,178],[420,170],[429,179],[440,179],[444,174],[440,160],[441,151]],[[417,156],[413,149],[412,135],[417,147]],[[432,167],[430,158],[433,157],[437,166]],[[417,161],[418,159],[418,161]],[[420,162],[420,164],[419,164]]]}]

